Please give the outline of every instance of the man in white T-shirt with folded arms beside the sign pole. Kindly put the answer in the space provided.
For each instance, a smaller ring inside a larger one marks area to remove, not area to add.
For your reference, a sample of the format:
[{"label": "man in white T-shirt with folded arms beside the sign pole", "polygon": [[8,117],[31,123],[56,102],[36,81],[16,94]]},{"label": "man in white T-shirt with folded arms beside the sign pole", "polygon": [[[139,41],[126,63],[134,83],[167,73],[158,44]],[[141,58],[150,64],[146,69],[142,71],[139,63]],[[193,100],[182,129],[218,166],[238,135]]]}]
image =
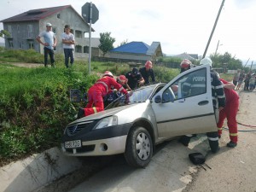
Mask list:
[{"label": "man in white T-shirt with folded arms beside the sign pole", "polygon": [[64,49],[64,55],[65,55],[65,66],[68,68],[68,62],[70,58],[70,65],[73,66],[73,49],[75,44],[75,39],[73,36],[73,33],[70,32],[70,26],[66,25],[64,28],[65,32],[62,33],[61,39]]}]

